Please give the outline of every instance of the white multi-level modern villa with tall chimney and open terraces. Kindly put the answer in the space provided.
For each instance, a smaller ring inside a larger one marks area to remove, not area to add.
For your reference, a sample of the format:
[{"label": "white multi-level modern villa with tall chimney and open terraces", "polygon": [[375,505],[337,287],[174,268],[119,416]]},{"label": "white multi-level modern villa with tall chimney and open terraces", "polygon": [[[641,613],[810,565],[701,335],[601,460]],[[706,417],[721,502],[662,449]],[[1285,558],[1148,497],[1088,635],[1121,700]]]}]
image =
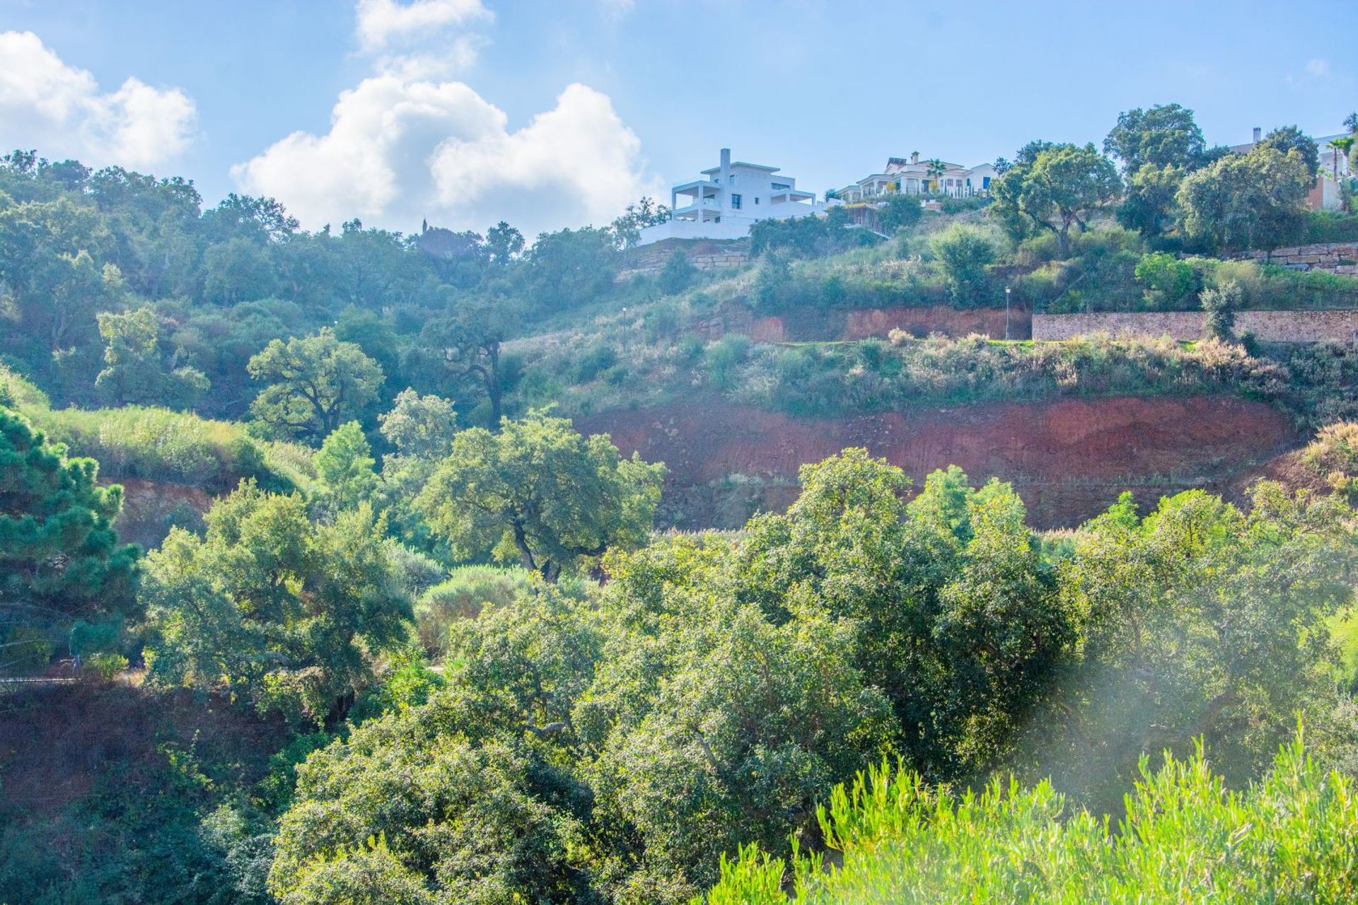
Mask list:
[{"label": "white multi-level modern villa with tall chimney and open terraces", "polygon": [[824,213],[812,191],[797,189],[778,167],[731,160],[702,171],[702,179],[680,182],[669,190],[671,218],[641,231],[642,246],[661,239],[741,239],[756,220],[788,220]]}]

